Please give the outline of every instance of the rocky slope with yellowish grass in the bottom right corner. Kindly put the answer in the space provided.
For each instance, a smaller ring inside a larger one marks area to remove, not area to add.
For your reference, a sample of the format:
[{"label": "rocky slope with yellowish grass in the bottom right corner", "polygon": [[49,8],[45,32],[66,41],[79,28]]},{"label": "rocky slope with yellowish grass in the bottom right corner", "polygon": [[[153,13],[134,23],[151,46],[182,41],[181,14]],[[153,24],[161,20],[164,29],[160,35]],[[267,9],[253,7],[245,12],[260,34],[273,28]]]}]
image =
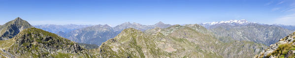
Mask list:
[{"label": "rocky slope with yellowish grass in the bottom right corner", "polygon": [[271,44],[266,50],[254,58],[295,58],[295,33],[279,42]]}]

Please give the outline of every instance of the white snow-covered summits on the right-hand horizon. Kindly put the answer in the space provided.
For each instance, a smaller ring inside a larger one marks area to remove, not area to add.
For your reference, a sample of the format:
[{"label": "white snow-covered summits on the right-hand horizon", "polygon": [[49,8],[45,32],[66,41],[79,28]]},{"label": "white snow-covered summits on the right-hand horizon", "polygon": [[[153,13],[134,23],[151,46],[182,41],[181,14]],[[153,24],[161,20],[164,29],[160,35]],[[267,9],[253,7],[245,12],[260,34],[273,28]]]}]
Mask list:
[{"label": "white snow-covered summits on the right-hand horizon", "polygon": [[241,20],[229,20],[229,21],[218,21],[218,22],[205,22],[205,23],[202,23],[202,24],[204,24],[204,25],[215,25],[215,24],[222,24],[222,23],[249,24],[249,23],[254,23],[254,22],[249,22],[246,19],[241,19]]}]

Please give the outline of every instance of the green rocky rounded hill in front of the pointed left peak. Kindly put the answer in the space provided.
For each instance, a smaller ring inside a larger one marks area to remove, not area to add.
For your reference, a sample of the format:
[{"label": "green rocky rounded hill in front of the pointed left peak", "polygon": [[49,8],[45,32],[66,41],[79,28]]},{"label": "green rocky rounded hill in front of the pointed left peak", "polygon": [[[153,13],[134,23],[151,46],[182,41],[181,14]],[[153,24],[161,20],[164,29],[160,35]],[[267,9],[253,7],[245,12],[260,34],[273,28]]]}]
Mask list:
[{"label": "green rocky rounded hill in front of the pointed left peak", "polygon": [[87,50],[80,47],[78,43],[36,28],[25,29],[13,39],[3,40],[0,45],[2,45],[0,49],[8,51],[0,55],[8,57],[91,57]]}]

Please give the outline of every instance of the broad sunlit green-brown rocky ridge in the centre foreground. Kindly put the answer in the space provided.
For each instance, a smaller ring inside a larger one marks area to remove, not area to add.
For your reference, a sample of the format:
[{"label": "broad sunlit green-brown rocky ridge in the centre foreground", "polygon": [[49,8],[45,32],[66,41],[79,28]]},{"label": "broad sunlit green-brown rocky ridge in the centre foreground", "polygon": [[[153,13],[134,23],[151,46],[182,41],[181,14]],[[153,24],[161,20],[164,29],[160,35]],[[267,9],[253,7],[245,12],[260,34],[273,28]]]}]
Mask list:
[{"label": "broad sunlit green-brown rocky ridge in the centre foreground", "polygon": [[249,58],[266,47],[250,41],[222,42],[210,34],[197,32],[202,28],[197,24],[145,32],[128,28],[94,51],[99,52],[100,58]]}]

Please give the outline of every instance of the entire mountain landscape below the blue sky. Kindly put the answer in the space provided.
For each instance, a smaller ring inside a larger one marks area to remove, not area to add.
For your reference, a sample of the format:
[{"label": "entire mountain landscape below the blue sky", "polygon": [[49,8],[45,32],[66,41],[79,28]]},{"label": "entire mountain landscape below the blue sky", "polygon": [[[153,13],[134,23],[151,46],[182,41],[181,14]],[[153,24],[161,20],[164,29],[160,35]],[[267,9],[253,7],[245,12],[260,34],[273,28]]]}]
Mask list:
[{"label": "entire mountain landscape below the blue sky", "polygon": [[[291,34],[293,31],[278,25],[232,21],[207,25],[169,25],[163,22],[155,25],[141,25],[126,22],[115,27],[108,25],[89,26],[58,36],[34,28],[27,21],[17,18],[5,23],[6,25],[1,25],[1,32],[9,29],[3,35],[9,36],[0,40],[0,58],[252,58],[254,56],[255,58],[263,58],[294,56],[292,51],[295,37],[294,33]],[[287,37],[284,38],[284,35]],[[279,42],[275,43],[276,40]],[[99,44],[99,47],[93,44]],[[267,48],[268,44],[271,45]]]}]

